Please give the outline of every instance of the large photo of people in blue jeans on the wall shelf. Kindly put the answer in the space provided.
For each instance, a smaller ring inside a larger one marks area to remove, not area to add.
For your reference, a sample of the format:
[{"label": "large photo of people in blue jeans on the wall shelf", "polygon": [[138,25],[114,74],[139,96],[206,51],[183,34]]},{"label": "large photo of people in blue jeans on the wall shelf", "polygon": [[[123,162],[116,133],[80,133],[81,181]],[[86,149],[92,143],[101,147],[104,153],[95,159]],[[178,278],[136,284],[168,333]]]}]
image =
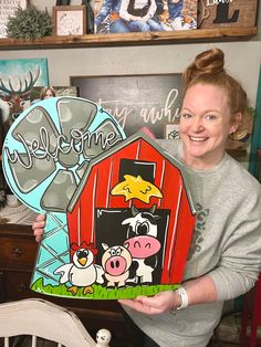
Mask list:
[{"label": "large photo of people in blue jeans on the wall shelf", "polygon": [[[93,1],[95,33],[161,32],[197,29],[198,0]],[[132,20],[130,18],[139,18]]]}]

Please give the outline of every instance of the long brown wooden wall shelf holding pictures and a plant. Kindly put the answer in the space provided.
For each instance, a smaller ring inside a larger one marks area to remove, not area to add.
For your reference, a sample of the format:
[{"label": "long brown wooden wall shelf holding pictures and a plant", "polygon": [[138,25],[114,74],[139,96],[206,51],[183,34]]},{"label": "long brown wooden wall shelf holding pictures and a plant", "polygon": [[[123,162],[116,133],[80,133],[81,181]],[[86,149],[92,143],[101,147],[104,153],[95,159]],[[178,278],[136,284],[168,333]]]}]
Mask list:
[{"label": "long brown wooden wall shelf holding pictures and a plant", "polygon": [[234,41],[246,40],[254,36],[257,33],[257,27],[223,27],[219,29],[181,30],[173,32],[165,31],[124,34],[115,33],[105,35],[88,34],[81,36],[45,36],[34,41],[4,38],[0,39],[0,51]]}]

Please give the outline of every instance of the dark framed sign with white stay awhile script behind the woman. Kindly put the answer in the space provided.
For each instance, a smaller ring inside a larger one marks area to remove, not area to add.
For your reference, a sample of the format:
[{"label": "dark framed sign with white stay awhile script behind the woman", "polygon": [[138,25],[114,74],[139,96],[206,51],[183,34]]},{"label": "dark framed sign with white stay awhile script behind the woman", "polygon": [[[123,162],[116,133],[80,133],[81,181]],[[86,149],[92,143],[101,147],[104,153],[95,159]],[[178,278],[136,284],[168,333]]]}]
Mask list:
[{"label": "dark framed sign with white stay awhile script behind the woman", "polygon": [[181,74],[71,76],[79,96],[104,107],[126,136],[148,127],[164,138],[164,125],[175,123],[180,109]]}]

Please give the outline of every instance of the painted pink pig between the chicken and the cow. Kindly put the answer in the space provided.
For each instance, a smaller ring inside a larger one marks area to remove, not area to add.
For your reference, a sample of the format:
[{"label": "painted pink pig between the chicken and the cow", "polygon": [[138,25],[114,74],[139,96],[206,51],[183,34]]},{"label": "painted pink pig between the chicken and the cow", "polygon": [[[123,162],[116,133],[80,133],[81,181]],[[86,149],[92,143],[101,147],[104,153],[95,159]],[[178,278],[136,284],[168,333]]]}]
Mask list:
[{"label": "painted pink pig between the chicken and the cow", "polygon": [[117,284],[117,288],[122,290],[129,276],[132,255],[127,246],[114,245],[109,248],[106,243],[102,243],[102,246],[105,250],[102,256],[102,266],[107,280],[107,288],[114,288]]}]

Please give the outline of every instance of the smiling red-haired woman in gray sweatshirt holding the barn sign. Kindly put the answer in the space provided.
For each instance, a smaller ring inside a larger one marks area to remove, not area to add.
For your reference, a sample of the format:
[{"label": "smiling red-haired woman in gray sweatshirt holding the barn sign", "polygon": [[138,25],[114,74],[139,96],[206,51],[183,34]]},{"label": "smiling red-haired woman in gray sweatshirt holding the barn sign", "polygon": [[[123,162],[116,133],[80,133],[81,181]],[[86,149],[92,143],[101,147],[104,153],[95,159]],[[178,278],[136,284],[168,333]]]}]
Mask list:
[{"label": "smiling red-haired woman in gray sweatshirt holding the barn sign", "polygon": [[[206,346],[223,302],[248,292],[261,269],[261,187],[226,154],[247,95],[223,64],[219,49],[196,56],[184,73],[181,141],[158,140],[185,166],[197,221],[181,288],[119,301],[142,329],[136,346]],[[43,224],[33,225],[38,240]]]}]

